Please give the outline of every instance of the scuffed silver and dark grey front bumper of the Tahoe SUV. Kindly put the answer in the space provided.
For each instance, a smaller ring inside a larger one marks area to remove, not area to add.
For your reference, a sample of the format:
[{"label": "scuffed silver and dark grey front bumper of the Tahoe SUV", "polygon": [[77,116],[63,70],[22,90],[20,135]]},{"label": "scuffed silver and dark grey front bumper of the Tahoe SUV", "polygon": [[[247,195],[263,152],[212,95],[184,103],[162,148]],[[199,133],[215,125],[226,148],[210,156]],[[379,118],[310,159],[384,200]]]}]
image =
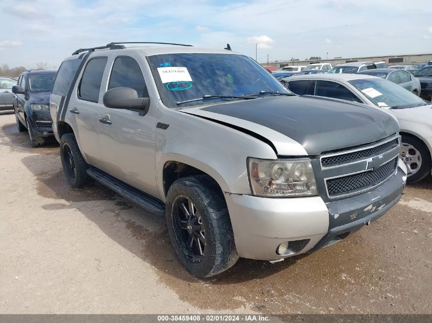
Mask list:
[{"label": "scuffed silver and dark grey front bumper of the Tahoe SUV", "polygon": [[[406,169],[401,161],[388,181],[361,195],[324,203],[320,196],[270,198],[225,193],[240,257],[276,260],[316,251],[382,216],[401,197]],[[301,245],[287,255],[277,247]],[[301,241],[301,242],[300,242]]]}]

